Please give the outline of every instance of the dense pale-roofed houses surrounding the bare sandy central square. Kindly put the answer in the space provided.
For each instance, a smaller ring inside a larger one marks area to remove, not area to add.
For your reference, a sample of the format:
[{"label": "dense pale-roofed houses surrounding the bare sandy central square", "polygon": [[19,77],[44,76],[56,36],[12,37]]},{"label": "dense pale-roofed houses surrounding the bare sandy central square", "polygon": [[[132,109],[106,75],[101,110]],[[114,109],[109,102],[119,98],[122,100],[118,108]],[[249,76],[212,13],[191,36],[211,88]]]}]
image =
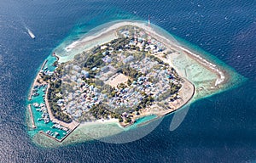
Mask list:
[{"label": "dense pale-roofed houses surrounding the bare sandy central square", "polygon": [[[109,98],[109,93],[102,93],[102,90],[97,88],[99,83],[84,82],[84,78],[90,78],[88,71],[74,63],[65,65],[64,71],[67,73],[62,76],[61,80],[68,86],[66,89],[63,87],[62,92],[65,96],[62,97],[59,94],[61,99],[58,100],[57,104],[74,119],[87,116],[87,120],[94,121],[95,117],[90,114],[90,109],[93,105],[100,103],[107,104],[110,110],[112,108],[114,110],[126,108],[128,110],[124,111],[129,111],[129,109],[137,107],[137,104],[143,100],[143,93],[158,100],[162,93],[167,93],[170,90],[171,82],[178,82],[170,68],[161,65],[157,60],[147,57],[147,55],[143,59],[136,60],[132,53],[134,47],[138,51],[151,53],[149,55],[163,52],[166,47],[161,42],[152,39],[150,35],[144,31],[139,31],[139,29],[133,31],[122,29],[119,31],[119,35],[129,39],[129,42],[123,44],[122,47],[119,46],[118,49],[114,47],[114,43],[103,45],[100,49],[103,54],[102,61],[105,64],[102,67],[93,67],[90,71],[99,71],[95,77],[102,81],[101,84],[108,84],[111,77],[117,76],[120,69],[118,64],[129,66],[132,70],[141,72],[143,76],[139,76],[129,86],[124,83],[123,86],[125,87],[115,87],[115,94]],[[125,51],[128,54],[123,54]],[[129,78],[129,76],[126,77]]]}]

